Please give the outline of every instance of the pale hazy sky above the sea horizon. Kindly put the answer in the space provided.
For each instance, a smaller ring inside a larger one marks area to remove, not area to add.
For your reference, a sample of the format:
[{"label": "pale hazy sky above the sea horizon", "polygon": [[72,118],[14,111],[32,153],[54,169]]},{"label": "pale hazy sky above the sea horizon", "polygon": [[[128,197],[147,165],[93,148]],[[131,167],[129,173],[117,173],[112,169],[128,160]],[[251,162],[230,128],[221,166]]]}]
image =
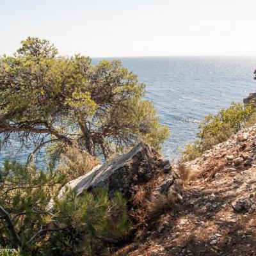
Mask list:
[{"label": "pale hazy sky above the sea horizon", "polygon": [[256,55],[256,0],[0,0],[0,54],[28,36],[64,55]]}]

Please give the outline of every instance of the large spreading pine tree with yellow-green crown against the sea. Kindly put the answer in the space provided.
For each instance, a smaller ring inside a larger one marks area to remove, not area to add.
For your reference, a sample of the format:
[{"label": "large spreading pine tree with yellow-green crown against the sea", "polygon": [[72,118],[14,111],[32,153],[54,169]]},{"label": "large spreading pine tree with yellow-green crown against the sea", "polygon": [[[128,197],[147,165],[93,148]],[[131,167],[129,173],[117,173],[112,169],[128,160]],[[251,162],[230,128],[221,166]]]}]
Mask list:
[{"label": "large spreading pine tree with yellow-green crown against the sea", "polygon": [[120,61],[92,65],[88,57],[60,56],[48,41],[29,37],[0,59],[0,133],[3,142],[29,138],[36,150],[52,140],[77,140],[92,156],[106,158],[138,140],[160,148],[169,131],[144,95],[145,84]]}]

